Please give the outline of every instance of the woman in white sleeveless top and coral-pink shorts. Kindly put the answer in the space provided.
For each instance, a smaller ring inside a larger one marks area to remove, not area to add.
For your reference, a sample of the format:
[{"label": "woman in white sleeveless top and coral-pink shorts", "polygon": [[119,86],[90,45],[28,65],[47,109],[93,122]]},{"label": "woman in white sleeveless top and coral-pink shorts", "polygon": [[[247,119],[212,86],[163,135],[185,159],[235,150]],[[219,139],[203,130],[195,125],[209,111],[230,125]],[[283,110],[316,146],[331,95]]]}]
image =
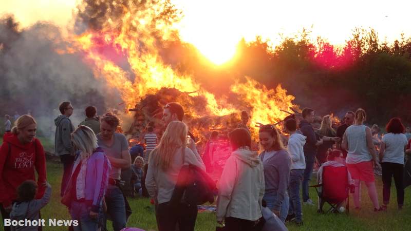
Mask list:
[{"label": "woman in white sleeveless top and coral-pink shorts", "polygon": [[353,125],[345,130],[342,148],[348,151],[348,171],[354,179],[356,189],[354,191],[354,205],[360,209],[360,182],[364,181],[368,189],[368,195],[374,205],[374,211],[381,211],[378,203],[376,182],[373,165],[381,168],[378,162],[375,146],[372,143],[371,129],[365,126],[366,114],[364,109],[356,111],[356,120]]}]

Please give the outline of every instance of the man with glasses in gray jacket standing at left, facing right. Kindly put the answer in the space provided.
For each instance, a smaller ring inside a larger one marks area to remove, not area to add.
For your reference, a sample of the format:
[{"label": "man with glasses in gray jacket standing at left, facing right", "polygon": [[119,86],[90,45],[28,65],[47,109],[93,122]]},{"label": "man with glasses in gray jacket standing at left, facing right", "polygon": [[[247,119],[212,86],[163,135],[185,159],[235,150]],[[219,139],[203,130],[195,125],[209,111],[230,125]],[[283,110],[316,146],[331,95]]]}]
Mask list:
[{"label": "man with glasses in gray jacket standing at left, facing right", "polygon": [[70,102],[62,102],[59,105],[61,115],[54,119],[55,138],[54,149],[55,155],[60,157],[64,166],[63,179],[61,181],[61,196],[64,195],[66,184],[70,178],[71,165],[74,162],[74,147],[71,143],[71,132],[74,131],[74,126],[69,117],[73,114],[73,106]]}]

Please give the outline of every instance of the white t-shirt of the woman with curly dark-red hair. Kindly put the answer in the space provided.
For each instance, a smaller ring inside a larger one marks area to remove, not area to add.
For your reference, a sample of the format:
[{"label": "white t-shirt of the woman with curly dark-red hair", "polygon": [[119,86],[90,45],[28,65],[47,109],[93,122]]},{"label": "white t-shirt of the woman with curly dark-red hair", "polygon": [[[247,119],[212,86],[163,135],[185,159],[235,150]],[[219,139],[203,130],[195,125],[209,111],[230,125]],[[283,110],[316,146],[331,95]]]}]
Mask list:
[{"label": "white t-shirt of the woman with curly dark-red hair", "polygon": [[387,133],[382,137],[382,142],[385,143],[382,162],[404,164],[404,147],[408,143],[405,134]]}]

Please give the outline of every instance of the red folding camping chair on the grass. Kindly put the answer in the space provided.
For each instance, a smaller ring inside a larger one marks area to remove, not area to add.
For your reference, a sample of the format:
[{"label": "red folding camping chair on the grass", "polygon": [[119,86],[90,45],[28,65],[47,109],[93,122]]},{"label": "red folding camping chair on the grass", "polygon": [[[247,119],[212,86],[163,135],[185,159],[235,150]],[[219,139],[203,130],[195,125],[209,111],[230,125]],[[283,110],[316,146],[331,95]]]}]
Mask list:
[{"label": "red folding camping chair on the grass", "polygon": [[[323,183],[312,185],[319,196],[319,213],[324,213],[323,206],[327,202],[331,208],[327,213],[343,213],[339,210],[339,205],[345,202],[346,213],[349,214],[349,191],[353,192],[353,185],[348,184],[348,169],[345,166],[323,168]],[[322,190],[319,190],[322,187]]]}]

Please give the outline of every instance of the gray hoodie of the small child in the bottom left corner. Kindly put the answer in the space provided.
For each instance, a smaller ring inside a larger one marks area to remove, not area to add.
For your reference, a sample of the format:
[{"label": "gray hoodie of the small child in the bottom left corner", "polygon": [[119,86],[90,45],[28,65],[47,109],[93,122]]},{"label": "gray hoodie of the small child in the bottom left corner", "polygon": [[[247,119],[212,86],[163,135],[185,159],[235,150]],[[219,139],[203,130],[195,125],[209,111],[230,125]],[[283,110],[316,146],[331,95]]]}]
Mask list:
[{"label": "gray hoodie of the small child in the bottom left corner", "polygon": [[[39,211],[48,204],[51,197],[51,185],[46,184],[46,191],[43,198],[39,200],[31,200],[25,202],[16,202],[11,209],[11,220],[39,220]],[[11,226],[11,230],[37,230],[38,226]]]}]

